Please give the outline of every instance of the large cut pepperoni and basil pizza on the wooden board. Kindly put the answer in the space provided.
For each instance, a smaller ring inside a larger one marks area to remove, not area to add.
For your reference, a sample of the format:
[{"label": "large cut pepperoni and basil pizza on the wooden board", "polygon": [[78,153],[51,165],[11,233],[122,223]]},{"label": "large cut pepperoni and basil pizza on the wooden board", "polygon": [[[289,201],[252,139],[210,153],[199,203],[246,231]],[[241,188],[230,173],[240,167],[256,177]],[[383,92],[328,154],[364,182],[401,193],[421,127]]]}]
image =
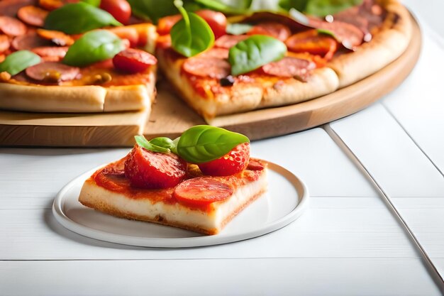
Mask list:
[{"label": "large cut pepperoni and basil pizza on the wooden board", "polygon": [[396,60],[396,0],[0,0],[0,109],[150,109],[157,61],[206,121],[335,92]]}]

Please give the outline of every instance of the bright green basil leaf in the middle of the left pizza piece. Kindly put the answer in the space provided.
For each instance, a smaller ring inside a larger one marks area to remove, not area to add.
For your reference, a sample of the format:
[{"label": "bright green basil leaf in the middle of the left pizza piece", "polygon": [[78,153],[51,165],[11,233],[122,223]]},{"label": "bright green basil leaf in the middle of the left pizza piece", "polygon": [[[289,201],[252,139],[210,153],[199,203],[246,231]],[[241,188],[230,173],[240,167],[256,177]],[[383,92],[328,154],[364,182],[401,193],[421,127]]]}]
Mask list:
[{"label": "bright green basil leaf in the middle of the left pizza piece", "polygon": [[62,62],[83,67],[101,60],[108,60],[124,49],[121,38],[106,30],[85,33],[68,49]]}]

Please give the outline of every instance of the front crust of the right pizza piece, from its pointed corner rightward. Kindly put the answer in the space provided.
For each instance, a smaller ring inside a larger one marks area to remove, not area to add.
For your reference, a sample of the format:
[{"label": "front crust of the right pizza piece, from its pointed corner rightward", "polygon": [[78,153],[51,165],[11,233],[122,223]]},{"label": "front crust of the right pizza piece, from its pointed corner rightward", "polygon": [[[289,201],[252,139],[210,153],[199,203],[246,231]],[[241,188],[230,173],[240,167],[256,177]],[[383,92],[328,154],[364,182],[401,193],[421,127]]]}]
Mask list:
[{"label": "front crust of the right pizza piece, from its pointed corner rightward", "polygon": [[208,97],[196,93],[187,76],[182,73],[184,59],[173,61],[162,50],[157,51],[157,59],[168,80],[189,106],[210,123],[216,116],[235,114],[255,109],[296,104],[321,97],[338,89],[338,77],[329,68],[316,69],[307,82],[294,78],[258,80],[232,87],[231,92],[213,93]]}]

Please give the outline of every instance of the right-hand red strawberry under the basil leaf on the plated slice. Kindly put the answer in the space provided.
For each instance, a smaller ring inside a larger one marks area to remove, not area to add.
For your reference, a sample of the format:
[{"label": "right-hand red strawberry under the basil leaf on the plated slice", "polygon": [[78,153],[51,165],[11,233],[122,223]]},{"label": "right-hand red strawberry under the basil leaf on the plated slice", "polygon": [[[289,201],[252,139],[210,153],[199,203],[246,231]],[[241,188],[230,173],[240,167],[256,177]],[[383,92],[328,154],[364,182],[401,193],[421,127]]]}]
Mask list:
[{"label": "right-hand red strawberry under the basil leaf on the plated slice", "polygon": [[243,143],[231,150],[226,155],[207,163],[199,163],[199,168],[204,175],[228,176],[235,175],[247,168],[250,159],[250,144]]}]

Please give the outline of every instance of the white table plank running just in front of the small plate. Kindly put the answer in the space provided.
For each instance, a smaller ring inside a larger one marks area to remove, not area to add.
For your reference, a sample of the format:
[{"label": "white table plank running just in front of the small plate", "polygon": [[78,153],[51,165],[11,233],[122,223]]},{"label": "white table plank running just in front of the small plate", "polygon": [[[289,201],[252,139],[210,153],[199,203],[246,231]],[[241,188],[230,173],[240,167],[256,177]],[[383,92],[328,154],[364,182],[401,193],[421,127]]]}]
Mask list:
[{"label": "white table plank running just in front of the small plate", "polygon": [[384,208],[309,209],[272,234],[221,246],[154,249],[96,241],[68,231],[49,209],[0,211],[0,260],[418,257]]}]

